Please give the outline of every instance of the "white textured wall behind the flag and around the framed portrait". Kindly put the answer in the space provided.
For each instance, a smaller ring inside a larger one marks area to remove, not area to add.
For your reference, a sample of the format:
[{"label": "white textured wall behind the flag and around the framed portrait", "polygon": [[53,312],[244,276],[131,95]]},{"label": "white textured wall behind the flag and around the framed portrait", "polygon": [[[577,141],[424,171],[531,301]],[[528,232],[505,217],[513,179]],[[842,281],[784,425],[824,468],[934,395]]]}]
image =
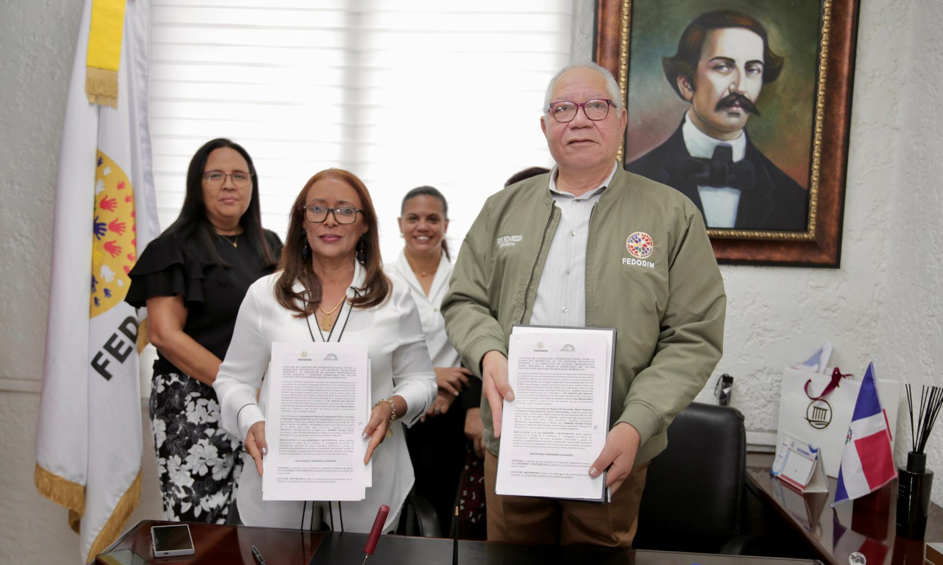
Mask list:
[{"label": "white textured wall behind the flag and around the framed portrait", "polygon": [[[591,3],[575,1],[574,58],[588,58]],[[79,0],[0,2],[0,555],[11,563],[77,558],[66,511],[33,486],[39,396],[23,379],[42,371],[51,200],[81,8]],[[943,5],[933,0],[862,2],[842,268],[722,269],[729,309],[718,373],[736,377],[734,404],[750,430],[775,429],[781,368],[826,340],[846,370],[860,372],[874,356],[882,375],[940,382],[941,25]],[[161,513],[145,436],[144,495],[132,522]],[[909,431],[899,427],[898,437],[901,462]],[[930,465],[940,471],[943,429],[933,440]]]}]

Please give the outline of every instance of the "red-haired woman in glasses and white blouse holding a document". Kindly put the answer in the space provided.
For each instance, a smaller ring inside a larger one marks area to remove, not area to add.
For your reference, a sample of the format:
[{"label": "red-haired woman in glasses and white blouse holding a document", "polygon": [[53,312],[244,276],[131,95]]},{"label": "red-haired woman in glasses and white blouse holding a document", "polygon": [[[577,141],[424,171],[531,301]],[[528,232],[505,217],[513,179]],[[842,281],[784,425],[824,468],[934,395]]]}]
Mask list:
[{"label": "red-haired woman in glasses and white blouse holding a document", "polygon": [[[368,346],[376,404],[364,429],[370,436],[364,462],[373,457],[373,486],[360,502],[262,500],[268,449],[263,376],[272,343],[309,339]],[[415,302],[383,274],[376,212],[367,188],[352,173],[321,171],[298,195],[279,270],[249,288],[213,386],[222,427],[245,438],[245,470],[236,496],[244,524],[299,528],[323,521],[336,530],[368,532],[379,506],[387,504],[384,530],[395,525],[414,482],[403,424],[412,425],[429,410],[435,374]],[[393,435],[387,437],[391,417]]]}]

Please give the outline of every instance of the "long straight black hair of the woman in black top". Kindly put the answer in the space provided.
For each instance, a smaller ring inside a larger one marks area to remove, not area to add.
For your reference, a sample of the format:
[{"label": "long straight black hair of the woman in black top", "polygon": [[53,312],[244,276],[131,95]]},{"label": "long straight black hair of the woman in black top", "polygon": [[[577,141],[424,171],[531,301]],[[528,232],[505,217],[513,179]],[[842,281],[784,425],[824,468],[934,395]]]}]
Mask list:
[{"label": "long straight black hair of the woman in black top", "polygon": [[[210,153],[225,147],[242,155],[249,166],[248,172],[252,179],[252,198],[249,200],[249,207],[239,218],[245,240],[264,267],[273,267],[278,259],[275,257],[274,250],[268,244],[265,232],[262,229],[259,178],[256,175],[252,157],[249,156],[249,152],[244,147],[224,137],[207,141],[197,149],[193,158],[190,159],[190,166],[187,169],[187,192],[183,199],[183,207],[180,209],[180,215],[164,233],[177,238],[183,244],[184,253],[191,253],[200,259],[211,260],[223,267],[229,267],[216,251],[214,240],[218,236],[216,235],[216,229],[206,215],[206,204],[203,201],[203,172],[206,168],[206,161],[209,159]],[[194,245],[194,242],[196,245]]]}]

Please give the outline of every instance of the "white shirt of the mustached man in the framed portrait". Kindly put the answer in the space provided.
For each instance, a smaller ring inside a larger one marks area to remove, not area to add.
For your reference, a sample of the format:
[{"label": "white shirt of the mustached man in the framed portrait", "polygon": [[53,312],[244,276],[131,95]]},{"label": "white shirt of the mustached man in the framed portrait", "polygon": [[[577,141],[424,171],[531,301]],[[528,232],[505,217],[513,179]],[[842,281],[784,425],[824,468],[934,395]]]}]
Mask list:
[{"label": "white shirt of the mustached man in the framed portrait", "polygon": [[[741,161],[746,154],[747,136],[741,131],[740,137],[730,141],[714,139],[701,130],[691,121],[691,111],[684,117],[681,134],[684,136],[684,145],[692,157],[711,159],[714,149],[721,143],[726,143],[733,149],[733,162]],[[740,189],[714,186],[698,186],[697,193],[701,197],[704,207],[704,222],[711,228],[732,228],[737,222],[737,209],[740,207]]]}]

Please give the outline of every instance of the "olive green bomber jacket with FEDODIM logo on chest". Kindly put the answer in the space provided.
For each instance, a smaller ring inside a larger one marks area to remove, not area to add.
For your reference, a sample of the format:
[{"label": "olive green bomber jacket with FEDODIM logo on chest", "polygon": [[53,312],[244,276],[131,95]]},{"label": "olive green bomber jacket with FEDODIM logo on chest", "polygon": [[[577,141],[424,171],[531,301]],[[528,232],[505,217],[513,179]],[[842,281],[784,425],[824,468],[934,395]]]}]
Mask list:
[{"label": "olive green bomber jacket with FEDODIM logo on chest", "polygon": [[[449,340],[481,377],[485,353],[507,355],[527,324],[560,221],[548,175],[491,196],[462,243],[442,302]],[[667,445],[666,430],[723,352],[727,297],[701,213],[673,188],[616,168],[589,220],[586,326],[617,330],[610,425],[638,430],[636,464]],[[651,250],[628,239],[653,243]],[[650,255],[647,255],[650,253]],[[485,445],[497,454],[482,397]]]}]

